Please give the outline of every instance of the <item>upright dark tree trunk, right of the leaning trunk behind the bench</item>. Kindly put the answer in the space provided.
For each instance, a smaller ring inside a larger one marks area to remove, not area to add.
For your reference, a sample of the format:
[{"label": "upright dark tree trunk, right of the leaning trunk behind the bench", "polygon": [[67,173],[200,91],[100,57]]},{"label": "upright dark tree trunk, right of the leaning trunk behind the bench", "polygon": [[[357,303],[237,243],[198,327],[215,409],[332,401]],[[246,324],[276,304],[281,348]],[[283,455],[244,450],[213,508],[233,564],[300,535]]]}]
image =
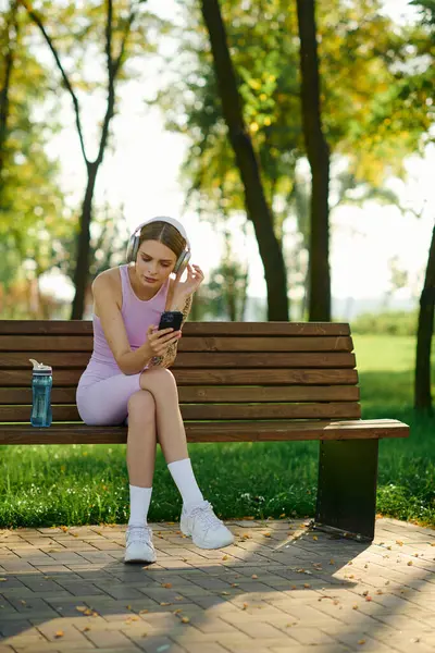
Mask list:
[{"label": "upright dark tree trunk, right of the leaning trunk behind the bench", "polygon": [[303,136],[311,168],[309,319],[331,320],[330,148],[322,131],[314,0],[297,0]]}]

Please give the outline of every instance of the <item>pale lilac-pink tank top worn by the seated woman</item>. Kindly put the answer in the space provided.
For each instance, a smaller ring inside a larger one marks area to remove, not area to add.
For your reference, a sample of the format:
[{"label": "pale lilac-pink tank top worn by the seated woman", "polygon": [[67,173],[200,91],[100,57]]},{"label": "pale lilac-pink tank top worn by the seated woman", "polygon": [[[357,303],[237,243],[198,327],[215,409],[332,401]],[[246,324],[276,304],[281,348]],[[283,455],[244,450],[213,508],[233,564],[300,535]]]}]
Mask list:
[{"label": "pale lilac-pink tank top worn by the seated woman", "polygon": [[[127,268],[127,264],[120,266],[122,285],[121,313],[124,319],[129,346],[135,350],[145,343],[148,326],[150,324],[159,324],[160,316],[164,311],[166,305],[170,280],[167,279],[165,281],[151,299],[139,299],[133,291]],[[92,362],[98,362],[110,365],[119,370],[120,368],[109,347],[108,341],[105,340],[101,320],[96,315],[92,315],[92,325],[94,352],[89,361],[90,367],[92,366]]]}]

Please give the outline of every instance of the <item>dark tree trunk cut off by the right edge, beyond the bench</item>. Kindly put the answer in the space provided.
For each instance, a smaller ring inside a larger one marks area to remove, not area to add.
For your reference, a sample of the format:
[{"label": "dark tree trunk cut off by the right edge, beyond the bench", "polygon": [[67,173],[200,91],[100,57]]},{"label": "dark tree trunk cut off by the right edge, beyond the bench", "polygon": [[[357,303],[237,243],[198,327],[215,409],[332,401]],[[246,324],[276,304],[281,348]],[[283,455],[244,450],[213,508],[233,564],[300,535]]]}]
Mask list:
[{"label": "dark tree trunk cut off by the right edge, beyond the bench", "polygon": [[431,348],[434,333],[435,310],[435,226],[428,250],[426,274],[420,297],[419,326],[417,332],[414,408],[433,414],[431,393]]}]

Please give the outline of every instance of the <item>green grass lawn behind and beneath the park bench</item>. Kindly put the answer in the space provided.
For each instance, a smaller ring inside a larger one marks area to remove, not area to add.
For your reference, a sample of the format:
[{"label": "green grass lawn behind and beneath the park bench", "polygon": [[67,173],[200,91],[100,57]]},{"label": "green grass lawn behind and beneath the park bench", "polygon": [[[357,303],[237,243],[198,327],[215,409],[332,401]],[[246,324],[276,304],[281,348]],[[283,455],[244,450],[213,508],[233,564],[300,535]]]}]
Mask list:
[{"label": "green grass lawn behind and beneath the park bench", "polygon": [[[435,418],[418,418],[411,407],[414,338],[353,340],[363,417],[411,426],[409,440],[381,441],[377,509],[435,525]],[[304,517],[314,513],[318,448],[316,442],[195,444],[189,455],[222,518]],[[125,445],[7,446],[1,453],[1,527],[128,520]],[[158,447],[149,519],[174,521],[181,505]]]}]

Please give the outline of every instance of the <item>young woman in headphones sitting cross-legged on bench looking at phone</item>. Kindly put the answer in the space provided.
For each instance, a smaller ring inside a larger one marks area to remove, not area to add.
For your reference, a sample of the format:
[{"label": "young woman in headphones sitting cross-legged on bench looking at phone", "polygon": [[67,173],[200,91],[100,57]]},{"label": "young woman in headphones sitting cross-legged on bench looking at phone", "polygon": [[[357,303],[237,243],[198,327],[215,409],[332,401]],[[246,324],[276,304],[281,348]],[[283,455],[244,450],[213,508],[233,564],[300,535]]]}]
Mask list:
[{"label": "young woman in headphones sitting cross-legged on bench looking at phone", "polygon": [[88,424],[128,424],[126,563],[157,559],[147,523],[157,442],[183,498],[183,533],[202,549],[234,542],[203,498],[187,452],[177,386],[167,369],[182,330],[158,330],[164,310],[181,310],[184,324],[203,281],[189,257],[183,225],[173,218],[153,218],[132,235],[127,263],[104,270],[92,283],[94,352],[77,386],[77,408]]}]

